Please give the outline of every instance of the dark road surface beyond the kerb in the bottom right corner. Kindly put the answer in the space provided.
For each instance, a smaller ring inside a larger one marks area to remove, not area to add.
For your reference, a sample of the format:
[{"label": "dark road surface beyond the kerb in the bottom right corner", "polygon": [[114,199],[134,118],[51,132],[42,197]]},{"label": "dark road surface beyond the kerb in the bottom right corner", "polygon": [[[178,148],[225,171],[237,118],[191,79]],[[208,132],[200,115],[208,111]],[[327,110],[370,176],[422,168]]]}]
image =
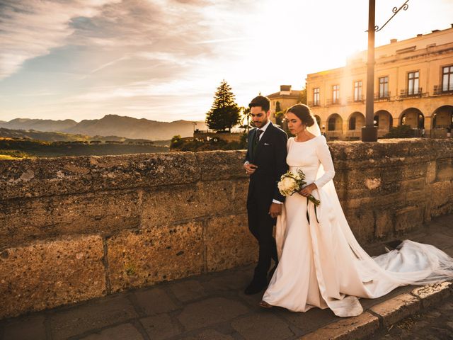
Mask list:
[{"label": "dark road surface beyond the kerb in the bottom right corner", "polygon": [[369,340],[452,340],[453,297],[423,314],[392,325]]}]

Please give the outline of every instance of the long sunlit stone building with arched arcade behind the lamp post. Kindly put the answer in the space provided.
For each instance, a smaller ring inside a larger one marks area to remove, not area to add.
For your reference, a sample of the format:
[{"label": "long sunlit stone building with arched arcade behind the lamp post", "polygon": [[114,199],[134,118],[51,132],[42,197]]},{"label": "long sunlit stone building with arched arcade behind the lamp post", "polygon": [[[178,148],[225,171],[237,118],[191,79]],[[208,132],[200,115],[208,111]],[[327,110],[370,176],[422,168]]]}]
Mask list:
[{"label": "long sunlit stone building with arched arcade behind the lamp post", "polygon": [[[445,137],[453,113],[453,25],[446,30],[376,47],[374,124],[379,137],[410,125],[427,137]],[[309,74],[307,101],[331,140],[359,139],[365,125],[367,51],[345,67]]]}]

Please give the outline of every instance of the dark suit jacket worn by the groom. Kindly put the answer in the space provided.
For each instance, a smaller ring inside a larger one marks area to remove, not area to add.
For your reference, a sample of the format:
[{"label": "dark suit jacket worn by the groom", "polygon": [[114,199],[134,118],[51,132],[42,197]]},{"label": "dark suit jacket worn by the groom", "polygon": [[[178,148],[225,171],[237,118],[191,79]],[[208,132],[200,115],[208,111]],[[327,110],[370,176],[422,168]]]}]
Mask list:
[{"label": "dark suit jacket worn by the groom", "polygon": [[287,134],[270,123],[258,142],[255,154],[252,154],[256,130],[254,128],[248,132],[246,161],[258,166],[255,173],[250,176],[248,200],[251,195],[254,195],[260,201],[269,201],[269,205],[273,199],[285,202],[285,196],[278,191],[277,183],[280,181],[280,176],[285,174],[288,169],[286,164]]}]

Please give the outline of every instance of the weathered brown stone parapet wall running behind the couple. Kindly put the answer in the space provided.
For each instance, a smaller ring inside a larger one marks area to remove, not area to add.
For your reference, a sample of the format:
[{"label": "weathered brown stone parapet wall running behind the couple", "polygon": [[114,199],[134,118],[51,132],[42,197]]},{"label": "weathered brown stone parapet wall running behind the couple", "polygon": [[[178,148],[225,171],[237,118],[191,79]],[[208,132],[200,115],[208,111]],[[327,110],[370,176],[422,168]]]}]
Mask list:
[{"label": "weathered brown stone parapet wall running behind the couple", "polygon": [[[329,143],[361,242],[453,211],[453,140]],[[0,318],[252,263],[243,151],[0,162]]]}]

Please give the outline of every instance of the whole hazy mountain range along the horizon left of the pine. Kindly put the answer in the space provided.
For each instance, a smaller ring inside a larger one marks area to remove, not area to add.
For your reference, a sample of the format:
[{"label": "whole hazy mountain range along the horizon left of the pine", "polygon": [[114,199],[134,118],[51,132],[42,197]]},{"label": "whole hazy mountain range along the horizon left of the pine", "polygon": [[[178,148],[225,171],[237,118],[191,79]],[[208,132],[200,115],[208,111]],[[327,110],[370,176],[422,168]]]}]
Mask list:
[{"label": "whole hazy mountain range along the horizon left of the pine", "polygon": [[[207,130],[205,122],[197,121],[196,123],[197,129]],[[101,119],[82,120],[80,123],[76,123],[74,120],[17,118],[6,123],[0,123],[0,128],[65,132],[88,136],[121,136],[144,140],[170,140],[174,135],[181,137],[193,135],[193,122],[188,120],[158,122],[120,115],[105,115]]]}]

